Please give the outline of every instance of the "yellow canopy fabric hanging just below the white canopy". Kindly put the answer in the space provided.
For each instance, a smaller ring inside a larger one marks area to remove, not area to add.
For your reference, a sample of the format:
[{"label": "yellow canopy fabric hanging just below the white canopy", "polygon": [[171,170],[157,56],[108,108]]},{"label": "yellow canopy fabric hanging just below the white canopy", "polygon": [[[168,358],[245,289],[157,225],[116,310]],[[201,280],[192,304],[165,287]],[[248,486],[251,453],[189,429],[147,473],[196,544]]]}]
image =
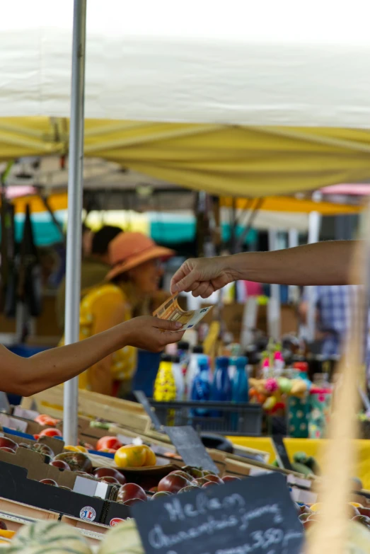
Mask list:
[{"label": "yellow canopy fabric hanging just below the white canopy", "polygon": [[[0,159],[63,154],[68,132],[63,119],[0,118]],[[370,178],[370,131],[361,129],[86,120],[85,154],[168,183],[238,197]]]}]

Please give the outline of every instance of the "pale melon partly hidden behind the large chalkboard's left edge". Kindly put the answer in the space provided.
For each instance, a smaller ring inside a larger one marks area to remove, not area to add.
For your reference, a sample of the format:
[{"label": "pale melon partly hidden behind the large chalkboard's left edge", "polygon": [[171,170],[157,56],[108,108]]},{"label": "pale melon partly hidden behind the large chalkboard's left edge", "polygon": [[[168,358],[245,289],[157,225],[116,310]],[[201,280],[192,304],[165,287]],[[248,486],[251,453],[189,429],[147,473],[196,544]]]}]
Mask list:
[{"label": "pale melon partly hidden behind the large chalkboard's left edge", "polygon": [[106,533],[98,554],[144,554],[134,519],[117,524]]}]

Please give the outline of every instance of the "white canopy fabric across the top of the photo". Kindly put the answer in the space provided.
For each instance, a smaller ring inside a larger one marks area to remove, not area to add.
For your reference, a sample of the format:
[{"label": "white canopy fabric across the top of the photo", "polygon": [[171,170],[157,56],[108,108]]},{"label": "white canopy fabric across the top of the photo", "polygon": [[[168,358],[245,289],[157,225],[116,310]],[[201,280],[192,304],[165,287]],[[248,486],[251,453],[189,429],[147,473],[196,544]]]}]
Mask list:
[{"label": "white canopy fabric across the top of the photo", "polygon": [[[68,117],[73,0],[1,5],[0,117]],[[86,117],[370,125],[369,5],[89,0]]]}]

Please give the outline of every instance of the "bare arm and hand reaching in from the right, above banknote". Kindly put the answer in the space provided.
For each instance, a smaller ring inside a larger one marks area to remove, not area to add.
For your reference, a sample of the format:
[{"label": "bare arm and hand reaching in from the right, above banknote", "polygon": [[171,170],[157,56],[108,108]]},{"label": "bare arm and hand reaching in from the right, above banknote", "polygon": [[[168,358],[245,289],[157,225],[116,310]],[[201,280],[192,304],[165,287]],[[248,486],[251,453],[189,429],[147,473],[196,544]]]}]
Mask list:
[{"label": "bare arm and hand reaching in from the right, above banknote", "polygon": [[348,284],[356,241],[328,241],[221,258],[187,260],[171,282],[171,292],[207,298],[226,284],[245,279],[260,283]]}]

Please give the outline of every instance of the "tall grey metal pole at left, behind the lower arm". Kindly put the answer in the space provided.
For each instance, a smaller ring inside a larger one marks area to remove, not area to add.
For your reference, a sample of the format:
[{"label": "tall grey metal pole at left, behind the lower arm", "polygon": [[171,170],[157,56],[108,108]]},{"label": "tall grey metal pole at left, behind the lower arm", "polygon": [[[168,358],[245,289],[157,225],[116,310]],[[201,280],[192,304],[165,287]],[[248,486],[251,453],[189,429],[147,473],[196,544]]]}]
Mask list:
[{"label": "tall grey metal pole at left, behind the lower arm", "polygon": [[[86,0],[74,0],[64,328],[66,345],[79,340],[85,46]],[[78,396],[79,379],[75,377],[64,384],[63,434],[66,444],[77,444]]]}]

